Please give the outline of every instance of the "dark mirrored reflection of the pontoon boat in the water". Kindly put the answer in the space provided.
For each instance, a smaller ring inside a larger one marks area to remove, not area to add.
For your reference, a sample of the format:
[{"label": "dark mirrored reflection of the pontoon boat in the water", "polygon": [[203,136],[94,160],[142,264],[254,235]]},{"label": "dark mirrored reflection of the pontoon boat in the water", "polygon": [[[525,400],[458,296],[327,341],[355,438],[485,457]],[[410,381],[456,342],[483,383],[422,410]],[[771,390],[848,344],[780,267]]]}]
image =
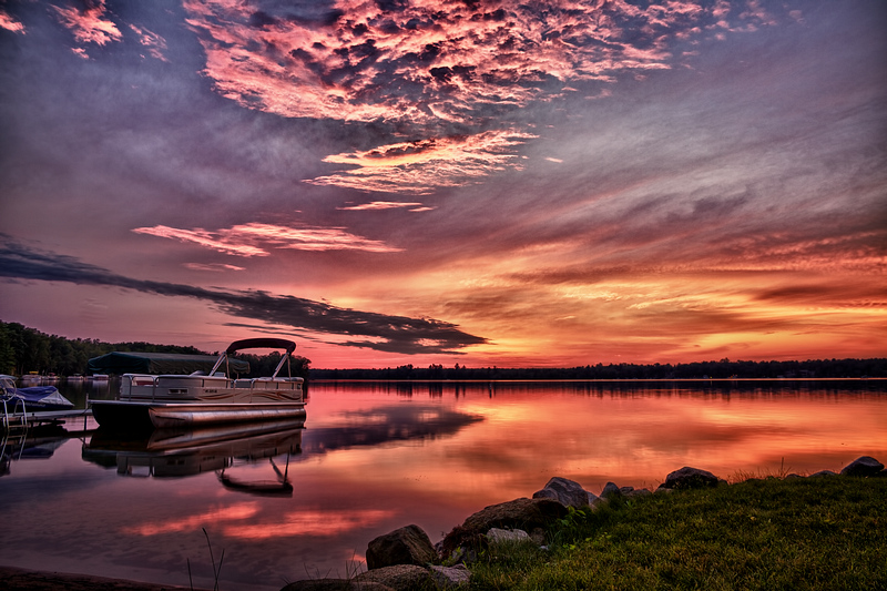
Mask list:
[{"label": "dark mirrored reflection of the pontoon boat in the water", "polygon": [[[141,437],[122,437],[100,428],[83,446],[86,461],[116,468],[121,476],[185,477],[215,471],[220,481],[232,490],[257,493],[292,495],[293,486],[286,471],[281,471],[274,458],[302,454],[302,420],[277,420],[235,425],[207,426],[200,429],[155,429]],[[232,473],[244,463],[269,460],[276,478],[249,482]],[[281,476],[283,475],[283,476]],[[273,485],[273,486],[272,486]]]}]

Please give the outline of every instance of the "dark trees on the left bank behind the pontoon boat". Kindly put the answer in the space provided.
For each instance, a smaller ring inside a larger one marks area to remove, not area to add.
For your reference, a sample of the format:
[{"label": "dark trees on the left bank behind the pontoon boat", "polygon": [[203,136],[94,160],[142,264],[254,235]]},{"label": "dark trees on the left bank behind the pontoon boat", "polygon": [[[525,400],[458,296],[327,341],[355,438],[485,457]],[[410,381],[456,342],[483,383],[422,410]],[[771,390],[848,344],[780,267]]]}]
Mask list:
[{"label": "dark trees on the left bank behind the pontoon boat", "polygon": [[[0,374],[81,375],[86,373],[90,359],[111,351],[216,355],[191,346],[155,345],[143,342],[104,343],[91,338],[69,339],[47,335],[18,323],[0,320]],[[268,355],[238,354],[237,357],[249,361],[249,374],[243,377],[269,376],[281,361],[278,351]],[[309,359],[294,356],[290,359],[292,374],[307,377],[309,364]],[[286,375],[286,366],[281,374]]]}]

